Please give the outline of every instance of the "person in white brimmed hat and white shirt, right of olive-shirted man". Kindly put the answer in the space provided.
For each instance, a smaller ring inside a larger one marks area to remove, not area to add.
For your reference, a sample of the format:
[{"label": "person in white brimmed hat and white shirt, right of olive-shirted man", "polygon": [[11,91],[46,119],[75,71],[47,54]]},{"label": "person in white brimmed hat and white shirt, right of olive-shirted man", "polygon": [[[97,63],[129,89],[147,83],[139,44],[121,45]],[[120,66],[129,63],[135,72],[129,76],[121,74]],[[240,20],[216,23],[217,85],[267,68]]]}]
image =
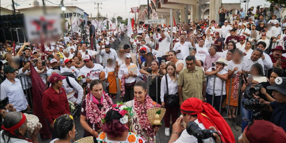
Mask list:
[{"label": "person in white brimmed hat and white shirt, right of olive-shirted man", "polygon": [[[207,103],[214,106],[215,110],[219,112],[221,101],[225,100],[225,94],[226,94],[225,81],[228,79],[228,71],[225,69],[225,66],[227,66],[227,64],[225,63],[224,58],[219,58],[218,61],[213,62],[213,64],[215,65],[215,67],[211,67],[205,72],[205,75],[216,76],[215,78],[213,77],[208,78],[206,99]],[[215,87],[214,87],[214,79],[215,79]],[[221,89],[221,87],[223,88]],[[214,101],[213,101],[213,96],[215,96]]]}]

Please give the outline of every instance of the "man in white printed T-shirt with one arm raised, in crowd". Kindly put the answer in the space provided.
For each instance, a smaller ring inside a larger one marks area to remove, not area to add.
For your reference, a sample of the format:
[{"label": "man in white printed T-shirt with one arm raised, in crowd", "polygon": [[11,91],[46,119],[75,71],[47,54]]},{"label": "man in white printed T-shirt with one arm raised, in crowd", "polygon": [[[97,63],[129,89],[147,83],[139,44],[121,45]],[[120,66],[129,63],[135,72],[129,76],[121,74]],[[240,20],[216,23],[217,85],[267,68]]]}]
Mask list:
[{"label": "man in white printed T-shirt with one arm raised, in crowd", "polygon": [[192,46],[197,48],[196,56],[200,57],[201,61],[204,62],[204,60],[206,59],[206,56],[210,53],[208,52],[208,49],[206,47],[204,47],[204,39],[200,39],[198,44],[195,44],[196,38],[197,38],[197,36],[194,35],[194,37],[192,39]]}]

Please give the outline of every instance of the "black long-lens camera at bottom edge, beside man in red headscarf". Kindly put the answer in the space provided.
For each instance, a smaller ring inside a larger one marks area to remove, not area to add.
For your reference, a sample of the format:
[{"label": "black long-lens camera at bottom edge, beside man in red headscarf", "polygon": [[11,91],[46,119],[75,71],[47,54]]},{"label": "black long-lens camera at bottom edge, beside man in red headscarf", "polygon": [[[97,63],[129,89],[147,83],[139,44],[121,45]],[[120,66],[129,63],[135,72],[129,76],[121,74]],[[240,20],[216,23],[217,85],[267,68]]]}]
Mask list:
[{"label": "black long-lens camera at bottom edge, beside man in red headscarf", "polygon": [[[215,130],[202,130],[197,123],[190,121],[187,126],[187,133],[196,137],[198,143],[215,143],[215,137],[212,133],[218,134]],[[219,135],[219,134],[218,134]]]}]

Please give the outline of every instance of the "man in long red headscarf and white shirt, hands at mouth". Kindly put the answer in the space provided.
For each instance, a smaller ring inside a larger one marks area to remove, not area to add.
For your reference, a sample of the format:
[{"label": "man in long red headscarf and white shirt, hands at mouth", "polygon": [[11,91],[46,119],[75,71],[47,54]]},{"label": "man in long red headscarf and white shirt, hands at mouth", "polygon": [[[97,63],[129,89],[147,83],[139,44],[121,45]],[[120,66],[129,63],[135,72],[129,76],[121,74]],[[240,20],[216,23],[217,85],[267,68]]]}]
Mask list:
[{"label": "man in long red headscarf and white shirt, hands at mouth", "polygon": [[183,102],[180,109],[183,117],[178,118],[176,123],[173,124],[172,136],[169,143],[201,142],[195,136],[187,133],[187,129],[181,126],[182,121],[185,123],[193,121],[197,123],[202,130],[210,127],[216,127],[218,134],[221,136],[220,141],[218,135],[212,134],[212,136],[215,137],[216,143],[235,142],[229,125],[209,103],[204,103],[202,100],[197,98],[189,98]]}]

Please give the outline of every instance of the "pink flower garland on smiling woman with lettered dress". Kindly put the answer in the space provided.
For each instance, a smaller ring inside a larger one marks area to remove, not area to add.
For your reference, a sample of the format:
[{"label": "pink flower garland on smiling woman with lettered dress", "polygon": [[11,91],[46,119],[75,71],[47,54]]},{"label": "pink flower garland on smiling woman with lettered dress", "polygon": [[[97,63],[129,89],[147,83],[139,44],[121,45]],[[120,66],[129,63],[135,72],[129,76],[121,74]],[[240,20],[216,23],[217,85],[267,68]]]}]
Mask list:
[{"label": "pink flower garland on smiling woman with lettered dress", "polygon": [[150,143],[154,143],[155,131],[152,128],[152,124],[148,120],[147,110],[153,107],[154,107],[153,101],[151,97],[148,96],[148,94],[145,97],[144,106],[141,103],[139,103],[137,99],[134,97],[134,110],[139,117],[139,123],[142,129],[146,130],[147,136],[150,138],[149,139]]}]

